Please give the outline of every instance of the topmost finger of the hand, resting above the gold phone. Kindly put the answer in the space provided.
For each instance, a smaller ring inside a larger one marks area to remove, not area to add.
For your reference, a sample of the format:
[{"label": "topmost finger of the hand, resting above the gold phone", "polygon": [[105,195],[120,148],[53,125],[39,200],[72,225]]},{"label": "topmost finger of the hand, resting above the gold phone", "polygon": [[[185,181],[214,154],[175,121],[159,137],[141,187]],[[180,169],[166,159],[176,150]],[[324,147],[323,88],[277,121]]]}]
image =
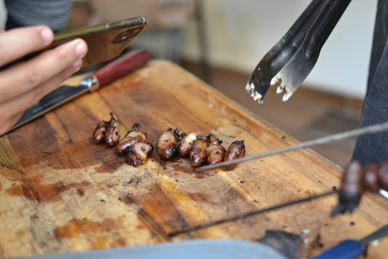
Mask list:
[{"label": "topmost finger of the hand, resting above the gold phone", "polygon": [[21,27],[0,35],[0,67],[50,45],[54,34],[47,26]]}]

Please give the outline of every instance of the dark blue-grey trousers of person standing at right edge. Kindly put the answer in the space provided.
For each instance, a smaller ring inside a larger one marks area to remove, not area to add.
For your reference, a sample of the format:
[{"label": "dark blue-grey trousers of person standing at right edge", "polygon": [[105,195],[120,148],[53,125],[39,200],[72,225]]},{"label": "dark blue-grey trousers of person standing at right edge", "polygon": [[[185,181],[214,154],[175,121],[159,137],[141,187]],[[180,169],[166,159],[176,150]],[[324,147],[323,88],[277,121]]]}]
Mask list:
[{"label": "dark blue-grey trousers of person standing at right edge", "polygon": [[[388,121],[388,0],[379,0],[374,27],[368,90],[361,127]],[[357,138],[352,160],[381,164],[388,158],[388,132]]]}]

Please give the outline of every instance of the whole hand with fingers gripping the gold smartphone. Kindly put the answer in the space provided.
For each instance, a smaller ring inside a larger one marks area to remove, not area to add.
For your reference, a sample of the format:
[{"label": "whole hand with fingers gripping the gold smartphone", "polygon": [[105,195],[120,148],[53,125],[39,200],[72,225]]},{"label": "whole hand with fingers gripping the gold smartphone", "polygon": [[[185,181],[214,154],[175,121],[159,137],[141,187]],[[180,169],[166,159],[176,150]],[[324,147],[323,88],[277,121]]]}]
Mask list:
[{"label": "whole hand with fingers gripping the gold smartphone", "polygon": [[[2,32],[0,67],[50,45],[53,33],[46,26]],[[0,70],[0,135],[9,130],[43,96],[82,66],[87,45],[74,39],[34,58]]]}]

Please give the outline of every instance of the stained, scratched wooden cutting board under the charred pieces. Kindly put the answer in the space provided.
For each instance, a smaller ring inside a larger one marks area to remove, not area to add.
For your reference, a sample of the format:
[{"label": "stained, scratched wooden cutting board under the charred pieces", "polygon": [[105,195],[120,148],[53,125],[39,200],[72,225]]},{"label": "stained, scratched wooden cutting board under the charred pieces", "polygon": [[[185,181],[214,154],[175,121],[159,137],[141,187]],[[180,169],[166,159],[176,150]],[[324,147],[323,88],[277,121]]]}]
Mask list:
[{"label": "stained, scratched wooden cutting board under the charred pieces", "polygon": [[[154,151],[135,168],[114,149],[93,144],[94,127],[111,111],[122,136],[138,122],[154,144],[168,127],[213,133],[225,146],[244,139],[246,155],[296,143],[180,67],[152,61],[0,137],[1,257],[199,238],[257,240],[269,229],[308,229],[307,241],[320,235],[323,247],[306,242],[308,256],[388,223],[388,202],[380,196],[367,194],[353,214],[331,218],[333,196],[169,238],[185,226],[331,190],[342,171],[308,149],[204,173],[194,173],[186,158],[166,162]],[[369,249],[369,258],[387,254],[388,240]]]}]

